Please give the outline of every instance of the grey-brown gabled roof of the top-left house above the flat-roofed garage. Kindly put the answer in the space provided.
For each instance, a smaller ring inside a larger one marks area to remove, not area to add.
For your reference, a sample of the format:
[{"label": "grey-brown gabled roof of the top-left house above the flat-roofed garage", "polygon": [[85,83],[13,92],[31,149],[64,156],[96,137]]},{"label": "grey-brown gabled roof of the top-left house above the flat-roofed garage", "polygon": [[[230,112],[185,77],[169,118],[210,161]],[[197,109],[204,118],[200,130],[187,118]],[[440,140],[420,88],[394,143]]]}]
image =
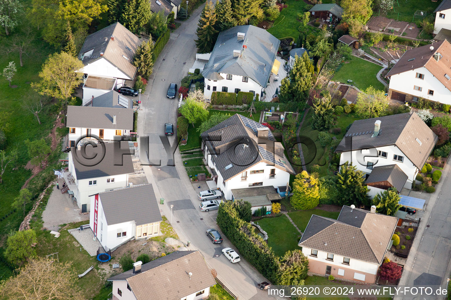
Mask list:
[{"label": "grey-brown gabled roof of the top-left house above the flat-roofed garage", "polygon": [[[114,40],[111,40],[111,36],[114,36]],[[78,54],[78,59],[82,58],[83,53],[94,49],[90,58],[83,59],[84,65],[101,58],[100,55],[103,53],[102,58],[106,58],[110,63],[133,79],[136,73],[136,67],[133,66],[133,56],[138,46],[141,45],[141,42],[142,40],[122,26],[122,24],[115,22],[87,36]],[[123,55],[128,59],[124,58]]]}]

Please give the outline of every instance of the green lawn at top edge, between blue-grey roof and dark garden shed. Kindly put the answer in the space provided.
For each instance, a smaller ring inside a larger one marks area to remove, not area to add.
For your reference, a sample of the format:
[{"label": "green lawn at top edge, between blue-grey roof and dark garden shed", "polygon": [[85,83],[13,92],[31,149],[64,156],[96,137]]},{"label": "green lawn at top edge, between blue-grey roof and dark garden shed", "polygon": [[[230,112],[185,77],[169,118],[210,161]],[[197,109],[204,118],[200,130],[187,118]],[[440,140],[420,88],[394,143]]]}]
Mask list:
[{"label": "green lawn at top edge, between blue-grey roof and dark garden shed", "polygon": [[298,28],[301,24],[297,20],[297,16],[298,13],[304,12],[304,6],[307,4],[302,0],[286,0],[285,4],[288,4],[288,7],[282,9],[279,18],[274,21],[268,32],[278,39],[292,37],[293,40],[297,40],[299,36]]}]

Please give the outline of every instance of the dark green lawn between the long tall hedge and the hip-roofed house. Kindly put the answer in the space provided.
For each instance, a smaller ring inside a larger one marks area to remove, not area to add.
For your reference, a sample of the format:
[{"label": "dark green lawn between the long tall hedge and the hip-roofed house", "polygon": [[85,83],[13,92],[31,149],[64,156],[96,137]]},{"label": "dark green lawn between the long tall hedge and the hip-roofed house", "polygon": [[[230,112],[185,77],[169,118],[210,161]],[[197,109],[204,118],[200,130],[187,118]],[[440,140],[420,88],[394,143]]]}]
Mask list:
[{"label": "dark green lawn between the long tall hedge and the hip-roofed house", "polygon": [[300,249],[298,246],[300,233],[285,215],[263,218],[255,223],[258,223],[268,233],[268,245],[276,255],[282,256],[288,250]]}]

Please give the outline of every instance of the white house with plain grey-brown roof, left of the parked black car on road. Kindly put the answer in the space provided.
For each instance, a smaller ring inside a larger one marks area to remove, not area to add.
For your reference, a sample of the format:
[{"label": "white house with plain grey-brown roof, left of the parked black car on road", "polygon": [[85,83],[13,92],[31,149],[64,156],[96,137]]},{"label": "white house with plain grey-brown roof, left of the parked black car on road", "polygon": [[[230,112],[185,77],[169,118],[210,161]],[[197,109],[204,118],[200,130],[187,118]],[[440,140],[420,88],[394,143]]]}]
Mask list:
[{"label": "white house with plain grey-brown roof, left of the parked black car on road", "polygon": [[79,141],[82,143],[86,140],[96,141],[89,138],[91,134],[104,141],[120,140],[121,136],[133,131],[133,108],[69,105],[66,126],[69,127],[70,147],[75,147],[75,142],[82,135],[88,136]]}]

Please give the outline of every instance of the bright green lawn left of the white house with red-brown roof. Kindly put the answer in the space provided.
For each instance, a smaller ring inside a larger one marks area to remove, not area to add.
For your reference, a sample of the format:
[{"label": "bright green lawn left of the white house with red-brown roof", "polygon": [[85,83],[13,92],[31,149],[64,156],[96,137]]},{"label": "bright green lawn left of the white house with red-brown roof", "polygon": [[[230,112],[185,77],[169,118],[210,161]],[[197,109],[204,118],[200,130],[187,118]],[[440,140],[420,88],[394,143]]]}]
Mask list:
[{"label": "bright green lawn left of the white house with red-brown roof", "polygon": [[352,56],[349,63],[343,64],[334,77],[334,81],[345,82],[350,79],[352,84],[360,90],[365,90],[372,85],[376,90],[384,90],[385,87],[377,80],[377,72],[382,69],[381,66],[370,63],[362,58]]}]

